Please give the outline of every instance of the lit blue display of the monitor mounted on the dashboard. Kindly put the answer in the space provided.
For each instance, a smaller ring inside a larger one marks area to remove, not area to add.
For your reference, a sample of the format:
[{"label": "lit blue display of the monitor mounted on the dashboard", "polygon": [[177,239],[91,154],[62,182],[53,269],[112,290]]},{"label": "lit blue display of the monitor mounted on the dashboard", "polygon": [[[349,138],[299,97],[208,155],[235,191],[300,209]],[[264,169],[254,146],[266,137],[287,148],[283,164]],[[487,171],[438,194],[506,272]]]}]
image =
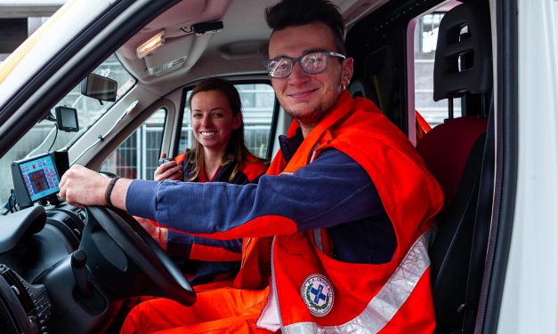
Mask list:
[{"label": "lit blue display of the monitor mounted on the dashboard", "polygon": [[20,171],[33,202],[60,190],[60,178],[51,155],[21,163]]}]

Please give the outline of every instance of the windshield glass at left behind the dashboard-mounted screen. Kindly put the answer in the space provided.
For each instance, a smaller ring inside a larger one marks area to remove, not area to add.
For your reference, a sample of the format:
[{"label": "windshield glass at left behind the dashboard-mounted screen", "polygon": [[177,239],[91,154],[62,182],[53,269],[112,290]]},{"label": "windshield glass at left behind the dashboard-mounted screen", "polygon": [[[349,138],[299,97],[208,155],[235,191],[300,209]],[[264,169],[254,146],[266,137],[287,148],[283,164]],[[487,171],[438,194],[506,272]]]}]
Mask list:
[{"label": "windshield glass at left behind the dashboard-mounted screen", "polygon": [[[103,61],[98,68],[95,68],[93,73],[117,81],[117,100],[135,84],[133,76],[125,70],[114,54]],[[81,84],[78,84],[74,89],[69,91],[69,93],[54,106],[76,108],[79,131],[57,131],[55,122],[46,119],[36,123],[35,126],[0,159],[0,172],[2,175],[12,175],[10,166],[13,161],[69,147],[116,102],[103,101],[101,104],[97,99],[86,97],[81,94],[80,85]],[[55,115],[54,107],[51,110],[52,115]],[[4,204],[7,203],[11,194],[11,189],[13,188],[12,178],[5,178],[5,180],[8,182],[0,184],[0,203],[3,206],[2,212],[5,211]]]}]

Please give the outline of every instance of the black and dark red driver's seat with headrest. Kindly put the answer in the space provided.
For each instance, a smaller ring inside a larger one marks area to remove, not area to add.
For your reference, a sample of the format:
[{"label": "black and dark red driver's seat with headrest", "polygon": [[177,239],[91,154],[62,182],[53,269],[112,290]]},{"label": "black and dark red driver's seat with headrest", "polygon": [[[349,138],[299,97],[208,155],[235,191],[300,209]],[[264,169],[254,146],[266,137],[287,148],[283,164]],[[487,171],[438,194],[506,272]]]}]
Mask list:
[{"label": "black and dark red driver's seat with headrest", "polygon": [[438,34],[433,99],[465,96],[470,115],[452,119],[450,112],[450,119],[426,133],[416,148],[446,195],[430,248],[436,332],[470,333],[481,291],[493,191],[488,8],[473,2],[457,5],[442,18]]}]

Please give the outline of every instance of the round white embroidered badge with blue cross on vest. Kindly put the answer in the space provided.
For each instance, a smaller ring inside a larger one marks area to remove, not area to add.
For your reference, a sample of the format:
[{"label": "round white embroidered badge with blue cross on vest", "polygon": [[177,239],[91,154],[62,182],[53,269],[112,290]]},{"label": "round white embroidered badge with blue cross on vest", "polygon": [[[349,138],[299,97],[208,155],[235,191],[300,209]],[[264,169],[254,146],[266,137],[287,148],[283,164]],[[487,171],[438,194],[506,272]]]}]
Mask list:
[{"label": "round white embroidered badge with blue cross on vest", "polygon": [[333,286],[323,274],[311,274],[300,287],[304,304],[313,316],[326,316],[333,307]]}]

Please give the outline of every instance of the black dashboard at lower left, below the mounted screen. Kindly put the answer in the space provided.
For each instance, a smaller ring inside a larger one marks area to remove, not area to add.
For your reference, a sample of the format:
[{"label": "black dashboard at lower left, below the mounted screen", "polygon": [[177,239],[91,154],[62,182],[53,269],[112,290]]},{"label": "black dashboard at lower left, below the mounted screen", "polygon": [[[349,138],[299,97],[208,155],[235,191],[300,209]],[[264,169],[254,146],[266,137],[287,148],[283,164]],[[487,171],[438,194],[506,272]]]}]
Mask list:
[{"label": "black dashboard at lower left, below the mounted screen", "polygon": [[53,301],[40,282],[77,251],[84,227],[85,212],[67,204],[0,216],[1,333],[53,332]]}]

